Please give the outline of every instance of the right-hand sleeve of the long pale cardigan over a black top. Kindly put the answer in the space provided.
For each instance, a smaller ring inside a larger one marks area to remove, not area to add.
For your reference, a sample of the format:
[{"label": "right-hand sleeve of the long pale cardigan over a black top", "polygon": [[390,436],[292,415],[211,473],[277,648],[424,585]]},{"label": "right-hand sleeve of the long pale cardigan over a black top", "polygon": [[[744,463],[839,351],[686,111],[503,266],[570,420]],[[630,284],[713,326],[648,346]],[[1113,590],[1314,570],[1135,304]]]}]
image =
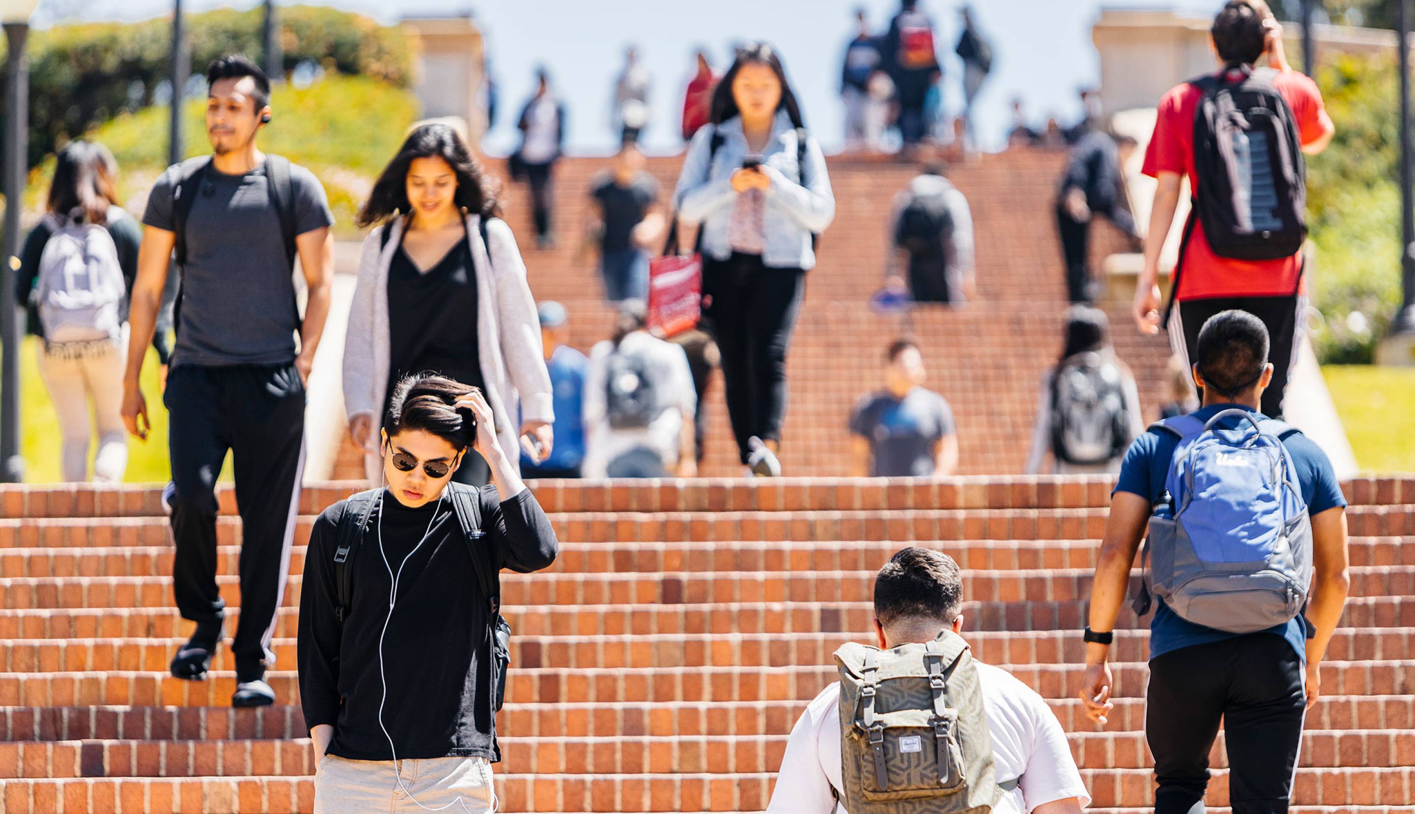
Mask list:
[{"label": "right-hand sleeve of the long pale cardigan over a black top", "polygon": [[[487,221],[487,253],[497,276],[497,323],[501,355],[511,384],[521,395],[521,420],[555,420],[555,394],[541,345],[541,317],[526,282],[526,265],[511,227],[501,218]],[[509,406],[508,406],[509,409]]]}]

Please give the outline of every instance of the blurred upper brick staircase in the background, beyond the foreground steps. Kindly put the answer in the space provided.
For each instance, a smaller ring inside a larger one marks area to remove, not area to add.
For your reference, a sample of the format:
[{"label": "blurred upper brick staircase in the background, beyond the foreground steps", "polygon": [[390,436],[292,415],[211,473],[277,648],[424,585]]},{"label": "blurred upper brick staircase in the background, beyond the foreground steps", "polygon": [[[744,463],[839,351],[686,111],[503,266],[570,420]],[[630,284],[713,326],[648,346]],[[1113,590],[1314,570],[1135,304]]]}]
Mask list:
[{"label": "blurred upper brick staircase in the background, beyond the foreground steps", "polygon": [[[580,224],[603,159],[567,159],[556,176],[559,243],[538,251],[529,194],[512,184],[505,215],[525,255],[531,289],[570,313],[570,344],[583,351],[608,336],[614,311],[601,302],[599,270],[577,262]],[[666,201],[681,159],[651,159],[649,171]],[[501,167],[494,167],[501,171]],[[884,345],[899,336],[920,341],[932,389],[952,403],[959,426],[961,474],[1020,473],[1026,463],[1037,386],[1061,350],[1065,307],[1061,255],[1053,217],[1056,153],[1015,150],[982,156],[949,170],[968,195],[978,236],[978,297],[966,309],[925,306],[907,317],[880,316],[867,302],[884,276],[886,221],[894,194],[916,167],[865,159],[831,159],[835,222],[821,236],[819,263],[807,277],[807,297],[788,358],[791,398],[782,466],[788,474],[849,474],[845,430],[856,396],[880,385]],[[505,177],[502,174],[502,177]],[[1108,222],[1095,231],[1097,268],[1124,242]],[[1129,293],[1124,302],[1129,302]],[[1140,382],[1146,409],[1160,401],[1160,371],[1169,355],[1163,336],[1142,337],[1126,309],[1109,309],[1116,350]],[[739,476],[720,378],[708,396],[710,437],[703,474]],[[335,477],[359,478],[357,452],[345,445]]]}]

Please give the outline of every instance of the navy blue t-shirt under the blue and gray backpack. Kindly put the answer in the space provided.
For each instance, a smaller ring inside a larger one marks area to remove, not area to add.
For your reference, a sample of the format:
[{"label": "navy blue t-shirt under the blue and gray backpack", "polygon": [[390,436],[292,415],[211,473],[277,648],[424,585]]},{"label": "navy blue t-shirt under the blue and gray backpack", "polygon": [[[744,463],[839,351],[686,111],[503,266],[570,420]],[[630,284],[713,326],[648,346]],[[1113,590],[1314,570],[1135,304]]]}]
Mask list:
[{"label": "navy blue t-shirt under the blue and gray backpack", "polygon": [[[1207,422],[1220,412],[1235,406],[1242,405],[1208,405],[1190,415]],[[1262,413],[1258,413],[1252,408],[1244,409],[1255,413],[1259,420],[1264,418]],[[1220,426],[1232,429],[1238,426],[1240,420],[1235,416],[1220,422]],[[1322,447],[1302,433],[1289,435],[1283,439],[1282,445],[1288,447],[1288,453],[1292,454],[1292,462],[1298,469],[1298,486],[1302,487],[1302,500],[1307,504],[1309,515],[1315,517],[1329,508],[1346,505],[1346,497],[1341,494],[1341,486],[1336,480],[1336,471],[1332,469],[1332,462],[1327,460]],[[1125,460],[1121,463],[1121,478],[1115,486],[1115,491],[1128,491],[1143,497],[1152,504],[1157,503],[1165,494],[1165,478],[1169,474],[1176,446],[1179,446],[1179,437],[1159,429],[1150,429],[1135,439],[1135,443],[1125,453]],[[1111,494],[1115,493],[1112,491]],[[1156,604],[1155,619],[1150,620],[1150,658],[1157,658],[1180,647],[1247,636],[1194,624],[1170,610],[1163,599],[1157,599]],[[1290,621],[1259,630],[1255,636],[1268,633],[1282,636],[1296,648],[1298,657],[1306,660],[1307,627],[1306,619],[1298,614]]]}]

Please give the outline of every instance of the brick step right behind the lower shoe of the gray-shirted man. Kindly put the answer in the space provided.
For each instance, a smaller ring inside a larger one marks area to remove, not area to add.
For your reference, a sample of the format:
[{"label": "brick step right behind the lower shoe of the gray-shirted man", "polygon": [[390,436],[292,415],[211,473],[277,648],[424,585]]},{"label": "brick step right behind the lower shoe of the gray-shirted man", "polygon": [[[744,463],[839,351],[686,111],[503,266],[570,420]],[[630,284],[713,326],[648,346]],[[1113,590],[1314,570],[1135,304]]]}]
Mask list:
[{"label": "brick step right behind the lower shoe of the gray-shirted man", "polygon": [[[1043,698],[1073,698],[1081,691],[1082,664],[998,664]],[[1145,663],[1118,663],[1115,697],[1139,698],[1149,680]],[[215,706],[229,701],[235,672],[215,671],[207,681],[181,681],[158,672],[0,672],[0,706]],[[836,680],[833,665],[691,667],[691,668],[522,668],[509,674],[507,699],[518,704],[583,701],[808,701]],[[266,674],[277,701],[297,698],[293,670]],[[1415,661],[1327,661],[1322,687],[1333,695],[1415,694]]]}]

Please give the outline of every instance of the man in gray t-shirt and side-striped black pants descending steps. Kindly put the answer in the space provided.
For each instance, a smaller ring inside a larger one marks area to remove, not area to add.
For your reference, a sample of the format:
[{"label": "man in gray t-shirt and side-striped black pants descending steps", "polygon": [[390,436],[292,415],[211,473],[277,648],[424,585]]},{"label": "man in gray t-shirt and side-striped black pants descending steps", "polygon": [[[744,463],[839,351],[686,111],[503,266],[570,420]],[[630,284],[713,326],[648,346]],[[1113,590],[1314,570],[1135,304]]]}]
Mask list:
[{"label": "man in gray t-shirt and side-striped black pants descending steps", "polygon": [[[270,122],[270,81],[260,68],[245,57],[212,61],[212,153],[170,167],[147,198],[123,381],[123,420],[146,440],[151,423],[139,377],[175,255],[177,347],[163,396],[173,483],[164,503],[177,544],[173,592],[183,619],[197,627],[171,674],[205,678],[221,641],[215,486],[229,452],[242,527],[241,623],[231,646],[235,706],[275,704],[265,671],[275,664],[270,638],[300,497],[304,385],[334,280],[334,215],[324,187],[308,170],[256,149]],[[296,256],[308,287],[303,319]]]}]

